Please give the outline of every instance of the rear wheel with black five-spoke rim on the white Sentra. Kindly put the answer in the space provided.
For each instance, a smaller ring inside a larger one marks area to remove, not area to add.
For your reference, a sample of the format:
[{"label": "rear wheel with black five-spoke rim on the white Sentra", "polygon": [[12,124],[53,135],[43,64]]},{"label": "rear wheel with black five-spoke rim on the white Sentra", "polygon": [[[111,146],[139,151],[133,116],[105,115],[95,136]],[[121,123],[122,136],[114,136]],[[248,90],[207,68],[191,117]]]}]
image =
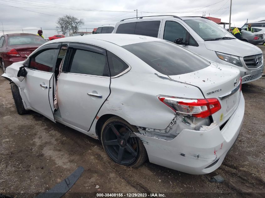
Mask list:
[{"label": "rear wheel with black five-spoke rim on the white Sentra", "polygon": [[136,168],[147,159],[142,141],[134,134],[135,126],[114,116],[102,127],[101,142],[108,156],[120,165]]}]

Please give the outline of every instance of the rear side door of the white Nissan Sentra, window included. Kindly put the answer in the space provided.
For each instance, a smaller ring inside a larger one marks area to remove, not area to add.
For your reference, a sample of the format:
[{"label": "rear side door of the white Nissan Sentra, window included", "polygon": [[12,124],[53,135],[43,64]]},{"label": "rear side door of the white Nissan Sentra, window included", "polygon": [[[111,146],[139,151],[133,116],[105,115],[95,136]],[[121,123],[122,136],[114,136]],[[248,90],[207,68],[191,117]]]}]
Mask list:
[{"label": "rear side door of the white Nissan Sentra, window included", "polygon": [[61,119],[88,131],[110,94],[105,49],[70,43],[57,86]]}]

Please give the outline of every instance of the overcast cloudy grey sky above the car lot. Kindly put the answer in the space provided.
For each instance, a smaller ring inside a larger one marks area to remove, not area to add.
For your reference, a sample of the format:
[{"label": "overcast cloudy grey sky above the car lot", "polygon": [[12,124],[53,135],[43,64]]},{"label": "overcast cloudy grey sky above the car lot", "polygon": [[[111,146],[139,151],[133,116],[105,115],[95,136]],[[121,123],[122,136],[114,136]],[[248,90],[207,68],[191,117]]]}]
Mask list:
[{"label": "overcast cloudy grey sky above the car lot", "polygon": [[[248,22],[265,20],[265,4],[253,0],[232,0],[231,26],[241,27]],[[260,2],[260,1],[257,1]],[[229,22],[230,0],[0,0],[0,36],[4,33],[37,33],[45,37],[57,34],[56,20],[65,14],[83,18],[81,31],[92,31],[104,24],[116,24],[124,18],[172,14],[205,16]],[[228,28],[228,25],[226,26]]]}]

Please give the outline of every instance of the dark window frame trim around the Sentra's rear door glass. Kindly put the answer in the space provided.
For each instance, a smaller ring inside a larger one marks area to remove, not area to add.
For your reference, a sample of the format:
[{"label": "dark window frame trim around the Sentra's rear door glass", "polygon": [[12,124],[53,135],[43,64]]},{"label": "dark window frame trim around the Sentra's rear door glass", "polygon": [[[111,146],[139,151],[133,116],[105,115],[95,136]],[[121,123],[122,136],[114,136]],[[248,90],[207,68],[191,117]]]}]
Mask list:
[{"label": "dark window frame trim around the Sentra's rear door glass", "polygon": [[[106,60],[106,67],[107,67],[109,76],[98,76],[98,75],[93,75],[93,74],[80,74],[80,73],[69,72],[68,70],[71,69],[70,64],[72,65],[71,61],[74,58],[74,55],[72,54],[72,51],[74,49],[78,49],[78,50],[83,50],[83,51],[88,51],[88,52],[93,52],[93,53],[98,53],[98,54],[104,55],[105,56],[105,60]],[[65,57],[66,56],[67,56],[66,64],[63,64],[63,68],[62,68],[61,73],[77,74],[77,75],[83,75],[83,76],[93,76],[93,77],[100,77],[100,78],[110,78],[109,63],[108,63],[106,49],[98,47],[98,46],[95,46],[95,45],[92,45],[92,44],[72,42],[72,43],[69,43],[69,45],[68,45]]]}]

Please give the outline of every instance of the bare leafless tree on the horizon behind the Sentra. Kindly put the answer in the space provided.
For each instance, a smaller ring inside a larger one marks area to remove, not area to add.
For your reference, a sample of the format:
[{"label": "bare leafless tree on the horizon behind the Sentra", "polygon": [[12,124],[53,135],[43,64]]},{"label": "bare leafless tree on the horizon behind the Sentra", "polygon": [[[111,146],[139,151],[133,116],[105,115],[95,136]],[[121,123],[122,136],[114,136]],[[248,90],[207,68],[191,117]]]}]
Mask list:
[{"label": "bare leafless tree on the horizon behind the Sentra", "polygon": [[78,29],[84,25],[84,19],[76,18],[71,15],[64,15],[63,17],[58,18],[57,20],[57,28],[60,29],[60,32],[66,34],[68,31],[72,31],[72,33],[76,33]]}]

